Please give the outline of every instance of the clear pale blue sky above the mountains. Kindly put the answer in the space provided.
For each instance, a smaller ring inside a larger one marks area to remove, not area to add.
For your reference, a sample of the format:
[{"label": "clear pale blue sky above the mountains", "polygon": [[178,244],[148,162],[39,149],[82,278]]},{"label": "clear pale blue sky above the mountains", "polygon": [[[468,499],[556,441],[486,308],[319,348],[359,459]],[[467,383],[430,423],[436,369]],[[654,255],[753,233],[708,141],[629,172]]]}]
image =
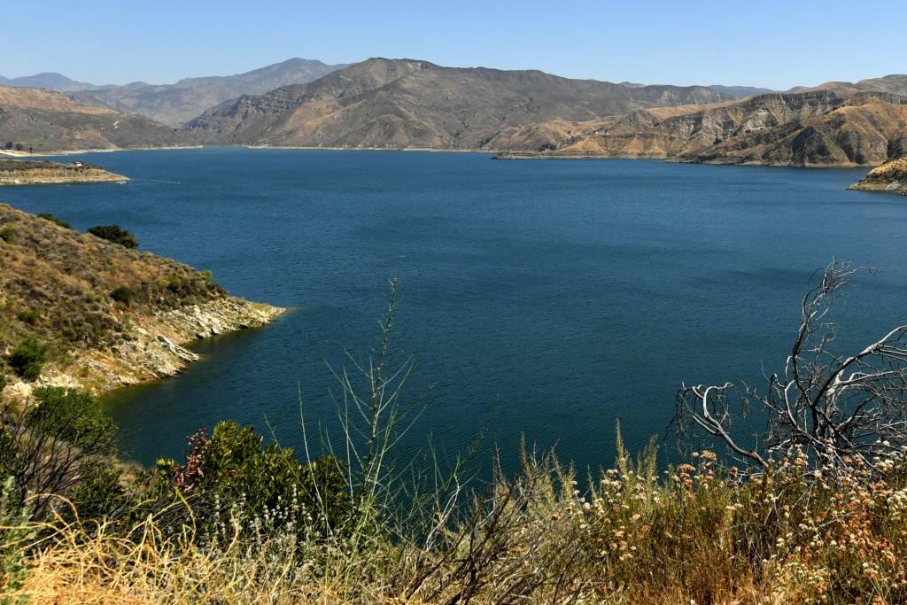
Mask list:
[{"label": "clear pale blue sky above the mountains", "polygon": [[907,73],[899,0],[9,0],[2,13],[0,75],[93,83],[171,83],[294,56],[777,89]]}]

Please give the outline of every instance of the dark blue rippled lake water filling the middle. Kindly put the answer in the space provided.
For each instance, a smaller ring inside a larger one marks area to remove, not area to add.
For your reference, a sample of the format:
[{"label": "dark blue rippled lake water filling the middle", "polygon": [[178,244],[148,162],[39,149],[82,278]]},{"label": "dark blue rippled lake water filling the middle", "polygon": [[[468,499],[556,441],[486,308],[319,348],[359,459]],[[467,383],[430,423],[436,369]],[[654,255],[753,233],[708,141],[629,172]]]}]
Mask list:
[{"label": "dark blue rippled lake water filling the middle", "polygon": [[[230,292],[297,310],[196,346],[182,375],[107,398],[127,455],[152,463],[219,419],[298,445],[297,388],[336,430],[325,366],[375,345],[398,278],[401,442],[517,462],[522,435],[580,467],[665,434],[691,383],[780,369],[810,274],[833,256],[883,269],[845,299],[846,349],[904,323],[907,203],[845,191],[864,171],[658,161],[491,161],[467,153],[209,148],[86,154],[132,177],[4,190],[79,229],[118,223],[141,249],[210,269]],[[348,365],[348,364],[347,364]]]}]

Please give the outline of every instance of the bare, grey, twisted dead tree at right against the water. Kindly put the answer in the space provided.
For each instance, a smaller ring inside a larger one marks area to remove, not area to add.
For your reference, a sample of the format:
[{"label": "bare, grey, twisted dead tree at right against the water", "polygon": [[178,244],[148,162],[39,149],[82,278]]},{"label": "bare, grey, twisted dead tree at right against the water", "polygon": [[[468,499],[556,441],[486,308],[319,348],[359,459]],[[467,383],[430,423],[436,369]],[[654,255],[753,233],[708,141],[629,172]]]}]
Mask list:
[{"label": "bare, grey, twisted dead tree at right against the water", "polygon": [[[831,350],[834,301],[858,271],[833,260],[801,303],[800,327],[781,376],[764,393],[746,385],[683,385],[674,423],[678,438],[705,434],[746,464],[767,468],[803,450],[816,467],[868,467],[907,444],[907,326],[852,356]],[[734,422],[750,411],[766,430],[743,444]]]}]

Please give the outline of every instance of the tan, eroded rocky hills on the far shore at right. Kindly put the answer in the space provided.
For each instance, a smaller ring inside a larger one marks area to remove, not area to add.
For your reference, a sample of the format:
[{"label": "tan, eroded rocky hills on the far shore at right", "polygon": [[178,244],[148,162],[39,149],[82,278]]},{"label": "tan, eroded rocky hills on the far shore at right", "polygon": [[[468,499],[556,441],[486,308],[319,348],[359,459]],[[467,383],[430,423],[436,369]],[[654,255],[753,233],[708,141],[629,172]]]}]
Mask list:
[{"label": "tan, eroded rocky hills on the far shore at right", "polygon": [[502,157],[853,166],[880,164],[907,150],[907,96],[891,93],[773,93],[686,109],[694,111],[633,112],[565,140],[552,138],[532,153]]}]

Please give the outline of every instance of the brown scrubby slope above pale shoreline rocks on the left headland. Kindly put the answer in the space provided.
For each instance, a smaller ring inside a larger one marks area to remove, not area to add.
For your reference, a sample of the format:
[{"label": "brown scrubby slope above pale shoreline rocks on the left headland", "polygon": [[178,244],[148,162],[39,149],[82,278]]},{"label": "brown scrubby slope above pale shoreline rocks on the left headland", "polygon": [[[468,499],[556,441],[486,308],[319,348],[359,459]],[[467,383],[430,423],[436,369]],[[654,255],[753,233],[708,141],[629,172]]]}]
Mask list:
[{"label": "brown scrubby slope above pale shoreline rocks on the left headland", "polygon": [[[4,204],[0,230],[0,351],[24,337],[53,341],[58,357],[103,350],[140,314],[223,296],[193,268]],[[128,305],[111,297],[116,288],[128,288]]]}]

